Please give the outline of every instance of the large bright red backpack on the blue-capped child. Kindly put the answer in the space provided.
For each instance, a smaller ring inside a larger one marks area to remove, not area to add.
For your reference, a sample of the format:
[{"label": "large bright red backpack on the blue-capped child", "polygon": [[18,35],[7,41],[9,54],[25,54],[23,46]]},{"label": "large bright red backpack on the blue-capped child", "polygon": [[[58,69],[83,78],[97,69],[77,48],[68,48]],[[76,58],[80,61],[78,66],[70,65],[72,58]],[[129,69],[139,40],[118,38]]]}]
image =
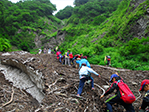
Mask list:
[{"label": "large bright red backpack on the blue-capped child", "polygon": [[115,81],[115,83],[119,87],[121,99],[127,104],[132,104],[136,98],[132,91],[129,89],[128,85],[125,84],[122,80]]}]

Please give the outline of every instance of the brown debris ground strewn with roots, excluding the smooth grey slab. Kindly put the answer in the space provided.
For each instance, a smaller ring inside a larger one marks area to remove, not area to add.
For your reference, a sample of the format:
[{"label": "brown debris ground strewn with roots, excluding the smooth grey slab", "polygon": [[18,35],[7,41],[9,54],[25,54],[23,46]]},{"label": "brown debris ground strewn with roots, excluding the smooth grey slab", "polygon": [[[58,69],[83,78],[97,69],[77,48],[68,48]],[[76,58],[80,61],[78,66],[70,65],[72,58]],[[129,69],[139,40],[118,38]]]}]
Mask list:
[{"label": "brown debris ground strewn with roots, excluding the smooth grey slab", "polygon": [[[33,60],[26,62],[25,66],[30,66],[34,70],[42,72],[44,85],[42,92],[44,93],[44,98],[39,103],[26,90],[14,87],[11,81],[6,80],[4,73],[1,71],[0,111],[2,112],[106,112],[104,102],[113,94],[99,99],[100,95],[103,94],[103,90],[100,87],[103,88],[104,85],[109,84],[111,74],[118,72],[136,98],[140,96],[138,90],[141,81],[149,78],[149,71],[131,71],[91,65],[96,72],[101,74],[101,78],[92,74],[95,90],[91,90],[90,84],[85,84],[81,97],[78,98],[76,94],[79,85],[79,75],[78,69],[74,66],[60,64],[55,54],[31,55],[27,53],[20,55],[19,52],[11,54],[15,55],[1,55],[0,58],[1,60],[15,59],[19,63],[21,60],[34,57]],[[13,67],[16,68],[15,66]],[[136,112],[138,112],[141,102],[142,96],[133,103]],[[113,111],[125,112],[125,109],[121,105],[115,104],[113,105]]]}]

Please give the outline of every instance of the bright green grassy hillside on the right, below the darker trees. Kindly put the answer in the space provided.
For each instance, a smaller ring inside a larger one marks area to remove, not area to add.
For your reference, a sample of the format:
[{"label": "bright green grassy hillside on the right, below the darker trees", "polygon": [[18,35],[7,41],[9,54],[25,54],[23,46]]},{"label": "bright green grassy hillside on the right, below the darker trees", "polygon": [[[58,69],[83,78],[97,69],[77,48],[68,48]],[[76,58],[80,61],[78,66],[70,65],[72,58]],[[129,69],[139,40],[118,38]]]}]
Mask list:
[{"label": "bright green grassy hillside on the right, below the darker trees", "polygon": [[[62,30],[67,32],[65,42],[60,45],[62,52],[83,53],[92,64],[104,64],[104,57],[111,56],[113,67],[132,70],[149,70],[149,30],[144,37],[135,37],[132,30],[140,18],[146,16],[149,0],[135,5],[137,1],[123,0],[118,9],[100,25],[79,23],[77,15]],[[76,20],[76,21],[75,21]]]}]

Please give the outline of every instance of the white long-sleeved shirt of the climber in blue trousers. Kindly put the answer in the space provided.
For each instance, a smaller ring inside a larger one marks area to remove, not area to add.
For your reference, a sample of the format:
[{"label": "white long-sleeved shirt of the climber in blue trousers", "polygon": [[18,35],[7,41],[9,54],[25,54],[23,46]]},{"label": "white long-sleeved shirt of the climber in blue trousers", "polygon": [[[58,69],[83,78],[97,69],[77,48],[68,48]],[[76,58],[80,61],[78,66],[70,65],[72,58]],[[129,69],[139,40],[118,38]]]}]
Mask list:
[{"label": "white long-sleeved shirt of the climber in blue trousers", "polygon": [[81,79],[83,75],[89,75],[90,73],[93,73],[95,75],[99,75],[97,72],[95,72],[92,68],[89,68],[87,66],[82,66],[81,69],[79,70],[79,78]]}]

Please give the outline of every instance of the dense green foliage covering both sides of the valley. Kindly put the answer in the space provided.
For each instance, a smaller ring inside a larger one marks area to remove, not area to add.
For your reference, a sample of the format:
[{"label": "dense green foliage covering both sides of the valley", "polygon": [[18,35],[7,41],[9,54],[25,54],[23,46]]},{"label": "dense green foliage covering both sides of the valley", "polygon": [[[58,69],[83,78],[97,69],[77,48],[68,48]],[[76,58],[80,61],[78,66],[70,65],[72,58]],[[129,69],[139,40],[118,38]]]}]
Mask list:
[{"label": "dense green foliage covering both sides of the valley", "polygon": [[[149,26],[144,37],[136,37],[138,20],[149,19],[149,0],[75,0],[56,16],[55,5],[49,0],[24,0],[16,4],[0,1],[0,51],[11,45],[30,51],[35,47],[36,34],[44,35],[44,43],[62,23],[66,22],[65,42],[59,48],[65,53],[86,55],[91,64],[105,65],[104,57],[111,56],[112,67],[149,70]],[[138,4],[138,6],[136,5]],[[60,19],[58,19],[60,18]],[[68,18],[68,19],[67,19]]]}]

